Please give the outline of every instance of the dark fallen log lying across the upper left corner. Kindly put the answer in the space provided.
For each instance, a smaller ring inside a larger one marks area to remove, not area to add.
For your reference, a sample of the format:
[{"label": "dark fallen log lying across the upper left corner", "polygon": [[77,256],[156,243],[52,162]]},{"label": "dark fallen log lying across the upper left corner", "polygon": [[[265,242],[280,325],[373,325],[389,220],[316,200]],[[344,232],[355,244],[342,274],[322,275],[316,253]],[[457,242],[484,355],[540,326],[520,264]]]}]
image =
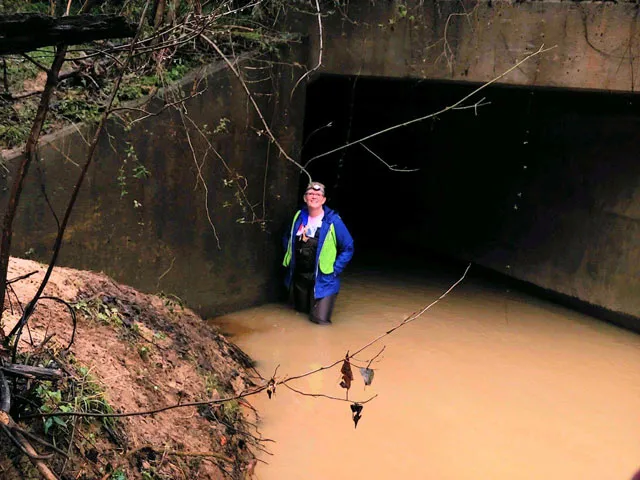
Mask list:
[{"label": "dark fallen log lying across the upper left corner", "polygon": [[136,25],[118,15],[55,18],[41,13],[0,15],[0,55],[25,53],[47,45],[77,45],[107,38],[128,38]]}]

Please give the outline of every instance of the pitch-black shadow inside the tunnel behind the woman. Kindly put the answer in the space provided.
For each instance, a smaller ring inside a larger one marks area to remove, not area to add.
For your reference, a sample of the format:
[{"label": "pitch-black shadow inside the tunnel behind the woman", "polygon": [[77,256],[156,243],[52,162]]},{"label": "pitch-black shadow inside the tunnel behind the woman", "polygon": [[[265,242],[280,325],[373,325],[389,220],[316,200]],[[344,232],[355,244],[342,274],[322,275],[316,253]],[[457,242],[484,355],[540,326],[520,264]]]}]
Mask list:
[{"label": "pitch-black shadow inside the tunnel behind the woman", "polygon": [[[307,89],[303,164],[437,112],[477,87],[320,76]],[[448,111],[311,161],[312,177],[327,185],[327,204],[354,236],[354,263],[458,270],[475,258],[496,263],[503,256],[506,264],[514,252],[531,262],[544,258],[543,242],[556,235],[563,214],[588,212],[597,201],[592,191],[599,178],[580,178],[580,157],[594,163],[611,155],[611,143],[621,143],[624,133],[615,129],[622,122],[640,126],[632,95],[491,86],[473,102],[481,99],[487,105]],[[620,148],[635,158],[636,144]],[[623,156],[622,150],[614,154]],[[419,170],[398,172],[389,165]],[[602,162],[598,168],[615,166]],[[588,240],[570,239],[580,246]],[[557,242],[567,242],[566,236],[558,235]],[[582,261],[583,250],[567,249],[563,261],[569,269]],[[633,317],[511,280],[505,272],[473,270],[637,330]]]}]

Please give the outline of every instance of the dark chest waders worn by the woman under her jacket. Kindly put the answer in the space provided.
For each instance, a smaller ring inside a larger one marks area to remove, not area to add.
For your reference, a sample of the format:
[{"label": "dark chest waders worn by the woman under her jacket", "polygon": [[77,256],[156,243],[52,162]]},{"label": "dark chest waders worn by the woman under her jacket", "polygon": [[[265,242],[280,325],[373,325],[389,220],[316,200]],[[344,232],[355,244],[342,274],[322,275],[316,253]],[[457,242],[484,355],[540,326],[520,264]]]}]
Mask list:
[{"label": "dark chest waders worn by the woman under her jacket", "polygon": [[[317,233],[320,229],[317,230]],[[316,253],[318,239],[297,236],[294,241],[295,269],[291,282],[293,305],[299,312],[308,313],[309,319],[319,325],[331,324],[331,313],[337,294],[315,298]]]}]

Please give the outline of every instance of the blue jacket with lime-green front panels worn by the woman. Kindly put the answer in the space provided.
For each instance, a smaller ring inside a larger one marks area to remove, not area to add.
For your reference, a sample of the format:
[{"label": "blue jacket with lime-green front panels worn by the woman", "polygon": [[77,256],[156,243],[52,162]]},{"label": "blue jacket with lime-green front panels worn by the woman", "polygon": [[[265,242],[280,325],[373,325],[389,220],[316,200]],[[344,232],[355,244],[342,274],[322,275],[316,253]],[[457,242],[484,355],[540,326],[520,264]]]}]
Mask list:
[{"label": "blue jacket with lime-green front panels worn by the woman", "polygon": [[[351,257],[353,257],[353,238],[340,215],[329,207],[323,206],[322,208],[324,217],[320,227],[318,250],[316,252],[315,298],[324,298],[340,291],[340,274],[349,263],[349,260],[351,260]],[[287,288],[291,286],[291,279],[295,269],[295,234],[300,225],[307,224],[308,219],[309,211],[305,206],[296,213],[290,229],[284,236],[286,254],[282,264],[287,267],[287,275],[285,277]],[[334,252],[335,260],[333,260]],[[322,261],[320,259],[321,254],[323,255]]]}]

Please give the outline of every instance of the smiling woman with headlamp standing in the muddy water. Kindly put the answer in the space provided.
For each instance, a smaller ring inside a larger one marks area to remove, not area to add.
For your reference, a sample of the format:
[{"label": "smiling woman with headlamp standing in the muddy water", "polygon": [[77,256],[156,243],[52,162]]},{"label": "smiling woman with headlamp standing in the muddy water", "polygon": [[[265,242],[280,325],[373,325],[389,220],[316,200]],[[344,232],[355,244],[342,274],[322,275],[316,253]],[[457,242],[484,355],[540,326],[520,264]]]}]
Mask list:
[{"label": "smiling woman with headlamp standing in the muddy water", "polygon": [[353,256],[353,238],[340,216],[324,206],[324,185],[311,182],[304,193],[306,207],[293,216],[285,237],[285,283],[294,307],[312,322],[331,324],[340,290],[340,274]]}]

